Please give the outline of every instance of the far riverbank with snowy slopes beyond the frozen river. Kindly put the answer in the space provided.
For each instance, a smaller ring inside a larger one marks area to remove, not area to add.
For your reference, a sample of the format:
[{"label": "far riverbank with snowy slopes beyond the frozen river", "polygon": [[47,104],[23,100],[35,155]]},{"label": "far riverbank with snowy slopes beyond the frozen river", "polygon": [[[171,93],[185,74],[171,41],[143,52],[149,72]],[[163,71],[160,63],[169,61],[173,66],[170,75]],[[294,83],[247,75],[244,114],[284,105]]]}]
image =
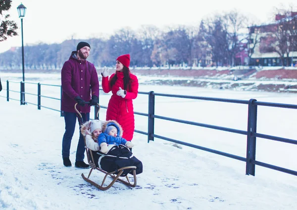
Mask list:
[{"label": "far riverbank with snowy slopes beyond the frozen river", "polygon": [[[110,73],[113,70],[110,70]],[[196,86],[216,89],[297,93],[297,68],[265,67],[262,69],[131,69],[140,84]],[[0,77],[21,70],[0,71]],[[26,74],[60,75],[60,70],[26,70]],[[101,70],[98,69],[99,80]],[[7,78],[7,77],[6,77]],[[4,79],[4,78],[3,78]],[[4,81],[2,79],[2,81]]]}]

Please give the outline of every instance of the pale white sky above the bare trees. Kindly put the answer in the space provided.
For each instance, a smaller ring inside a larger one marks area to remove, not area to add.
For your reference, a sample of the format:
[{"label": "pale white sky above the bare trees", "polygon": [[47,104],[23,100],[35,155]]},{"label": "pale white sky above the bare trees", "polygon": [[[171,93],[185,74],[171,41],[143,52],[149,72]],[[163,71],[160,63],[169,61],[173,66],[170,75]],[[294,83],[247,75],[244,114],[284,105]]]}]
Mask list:
[{"label": "pale white sky above the bare trees", "polygon": [[[198,27],[201,19],[215,13],[236,9],[258,20],[267,22],[275,8],[289,8],[292,0],[23,0],[12,1],[8,13],[18,26],[19,36],[0,42],[0,52],[21,46],[21,21],[16,7],[27,7],[23,19],[24,45],[60,43],[64,40],[108,37],[121,28],[138,30],[142,25],[153,25],[161,30],[169,26]],[[295,4],[296,5],[296,4]]]}]

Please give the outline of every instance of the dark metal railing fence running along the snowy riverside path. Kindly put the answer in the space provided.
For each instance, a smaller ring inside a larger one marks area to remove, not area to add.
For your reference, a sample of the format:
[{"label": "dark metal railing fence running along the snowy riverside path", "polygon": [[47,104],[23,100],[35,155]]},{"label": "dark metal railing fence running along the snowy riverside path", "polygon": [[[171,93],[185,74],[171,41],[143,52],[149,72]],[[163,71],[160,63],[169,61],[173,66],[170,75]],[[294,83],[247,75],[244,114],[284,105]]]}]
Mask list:
[{"label": "dark metal railing fence running along the snowy riverside path", "polygon": [[[16,83],[16,82],[6,81],[6,89],[3,88],[3,90],[6,90],[6,100],[7,101],[9,101],[10,99],[11,100],[19,100],[21,105],[23,105],[23,104],[36,105],[38,107],[38,109],[41,109],[41,107],[51,109],[51,110],[60,112],[61,113],[60,115],[63,116],[63,112],[61,110],[57,110],[57,109],[53,109],[53,108],[49,108],[49,107],[41,105],[41,98],[42,97],[53,99],[53,100],[60,100],[60,98],[55,98],[55,97],[49,97],[49,96],[42,95],[41,94],[41,86],[42,85],[47,85],[47,86],[60,87],[61,94],[62,94],[62,88],[61,88],[60,85],[20,82],[20,91],[16,91],[16,90],[9,89],[9,83]],[[37,84],[38,85],[37,94],[24,92],[23,90],[24,90],[25,84]],[[102,89],[100,89],[100,90],[102,90]],[[20,93],[20,99],[10,98],[9,97],[9,92],[18,92],[18,93]],[[25,101],[25,94],[37,96],[37,104]],[[142,131],[142,130],[135,130],[135,132],[147,135],[148,136],[148,142],[153,141],[154,138],[159,138],[159,139],[163,139],[163,140],[166,140],[166,141],[182,144],[182,145],[185,145],[185,146],[197,148],[199,150],[203,150],[203,151],[207,151],[207,152],[210,152],[210,153],[214,153],[214,154],[218,154],[218,155],[221,155],[221,156],[236,159],[236,160],[239,160],[239,161],[243,161],[243,162],[246,162],[246,174],[247,175],[255,175],[255,166],[256,165],[261,166],[261,167],[265,167],[265,168],[271,168],[271,169],[274,169],[274,170],[282,171],[282,172],[289,173],[289,174],[292,174],[292,175],[297,175],[297,171],[295,171],[295,170],[291,170],[291,169],[288,169],[288,168],[282,168],[282,167],[270,165],[270,164],[267,164],[267,163],[259,162],[259,161],[256,161],[256,159],[255,159],[256,137],[269,139],[269,140],[272,140],[272,141],[279,141],[279,142],[284,142],[284,143],[297,145],[297,140],[294,140],[294,139],[288,139],[288,138],[282,138],[282,137],[273,136],[273,135],[257,133],[256,129],[257,129],[257,110],[258,110],[258,107],[259,106],[266,106],[266,107],[278,107],[278,108],[285,108],[285,109],[297,109],[297,105],[270,103],[270,102],[259,102],[256,99],[235,100],[235,99],[225,99],[225,98],[211,98],[211,97],[198,97],[198,96],[187,96],[187,95],[162,94],[162,93],[155,93],[153,91],[139,92],[139,94],[148,95],[148,113],[141,113],[141,112],[134,112],[134,113],[135,113],[135,115],[141,115],[141,116],[148,117],[148,132],[145,132],[145,131]],[[160,116],[160,115],[155,115],[155,96],[186,98],[186,99],[195,99],[195,100],[204,100],[204,101],[217,101],[217,102],[236,103],[236,104],[246,104],[248,106],[247,130],[239,130],[239,129],[233,129],[233,128],[229,128],[229,127],[214,126],[214,125],[209,125],[209,124],[197,123],[197,122],[193,122],[193,121],[185,121],[185,120],[180,120],[180,119],[168,118],[168,117],[164,117],[164,116]],[[0,96],[0,97],[4,97],[4,96]],[[105,106],[100,106],[100,107],[104,108],[104,109],[107,108]],[[95,113],[94,118],[96,118],[97,117],[96,116],[96,113],[97,113],[96,110],[95,110],[94,113]],[[222,131],[226,131],[226,132],[232,132],[232,133],[238,133],[238,134],[246,135],[247,136],[247,153],[246,153],[246,157],[241,157],[241,156],[237,156],[237,155],[234,155],[234,154],[225,153],[225,152],[222,152],[222,151],[218,151],[218,150],[202,147],[202,146],[199,146],[199,145],[187,143],[187,142],[184,142],[184,141],[179,141],[179,140],[176,140],[176,139],[168,138],[168,137],[165,137],[165,136],[156,135],[156,134],[154,134],[155,119],[161,119],[161,120],[165,120],[165,121],[177,122],[177,123],[180,123],[180,124],[188,124],[188,125],[193,125],[193,126],[206,127],[206,128],[211,128],[211,129],[222,130]]]}]

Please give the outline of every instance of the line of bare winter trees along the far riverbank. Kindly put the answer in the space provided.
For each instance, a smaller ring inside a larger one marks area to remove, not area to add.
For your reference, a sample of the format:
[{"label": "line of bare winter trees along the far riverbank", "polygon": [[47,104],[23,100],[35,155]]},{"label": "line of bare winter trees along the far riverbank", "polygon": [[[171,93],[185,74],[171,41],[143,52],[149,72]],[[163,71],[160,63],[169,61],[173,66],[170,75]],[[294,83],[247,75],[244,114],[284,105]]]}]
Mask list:
[{"label": "line of bare winter trees along the far riverbank", "polygon": [[[278,10],[288,17],[288,10]],[[277,14],[278,14],[277,13]],[[290,13],[290,14],[289,14]],[[144,25],[139,30],[122,28],[108,39],[66,40],[62,43],[38,43],[24,46],[26,69],[61,69],[80,41],[89,42],[88,60],[96,67],[114,66],[121,54],[131,54],[132,67],[164,65],[234,66],[243,50],[250,58],[259,44],[262,52],[280,51],[280,56],[296,48],[297,18],[281,19],[271,36],[260,37],[259,24],[237,10],[215,14],[201,20],[198,27],[172,26],[165,30]],[[289,24],[290,23],[290,24]],[[281,26],[281,27],[279,27]],[[245,44],[243,44],[245,43]],[[21,47],[0,53],[0,69],[21,69]],[[207,59],[212,62],[207,63]]]}]

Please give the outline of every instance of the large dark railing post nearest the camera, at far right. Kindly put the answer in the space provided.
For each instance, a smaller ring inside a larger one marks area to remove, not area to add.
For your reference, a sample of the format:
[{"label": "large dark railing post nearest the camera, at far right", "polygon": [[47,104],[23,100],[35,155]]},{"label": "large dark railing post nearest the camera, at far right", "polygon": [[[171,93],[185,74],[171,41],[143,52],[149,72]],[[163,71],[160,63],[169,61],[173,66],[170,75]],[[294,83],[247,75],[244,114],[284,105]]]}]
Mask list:
[{"label": "large dark railing post nearest the camera, at far right", "polygon": [[252,136],[252,133],[256,133],[257,130],[257,105],[253,103],[256,99],[250,99],[248,101],[248,115],[247,115],[247,160],[246,160],[246,174],[255,175],[256,159],[256,137]]}]

